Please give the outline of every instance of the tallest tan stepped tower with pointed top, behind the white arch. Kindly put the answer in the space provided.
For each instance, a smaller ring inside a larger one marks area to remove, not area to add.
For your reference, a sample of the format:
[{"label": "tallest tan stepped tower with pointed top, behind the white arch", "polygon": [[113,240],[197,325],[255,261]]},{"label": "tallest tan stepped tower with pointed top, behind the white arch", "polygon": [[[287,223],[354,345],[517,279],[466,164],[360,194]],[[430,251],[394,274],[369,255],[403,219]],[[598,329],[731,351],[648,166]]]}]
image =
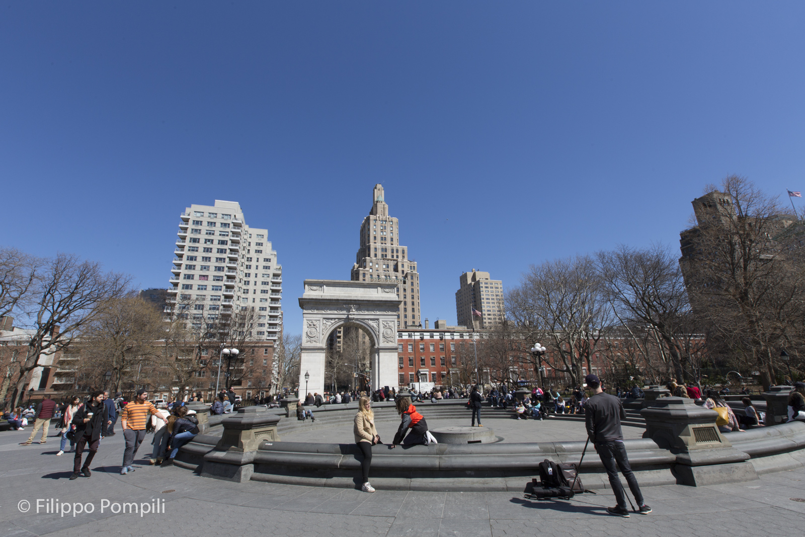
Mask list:
[{"label": "tallest tan stepped tower with pointed top, behind the white arch", "polygon": [[351,279],[356,282],[394,281],[399,283],[397,296],[403,302],[397,316],[397,328],[419,326],[419,272],[416,262],[407,255],[407,247],[400,245],[397,218],[389,216],[389,206],[383,196],[383,187],[374,185],[372,209],[361,224],[361,247],[357,250]]}]

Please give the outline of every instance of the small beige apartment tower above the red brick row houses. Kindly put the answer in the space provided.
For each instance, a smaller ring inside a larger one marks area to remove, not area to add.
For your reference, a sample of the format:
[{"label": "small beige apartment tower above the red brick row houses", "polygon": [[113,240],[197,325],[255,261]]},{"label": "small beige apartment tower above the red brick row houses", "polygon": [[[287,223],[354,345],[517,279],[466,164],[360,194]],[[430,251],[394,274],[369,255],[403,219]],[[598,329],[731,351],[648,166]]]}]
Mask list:
[{"label": "small beige apartment tower above the red brick row houses", "polygon": [[[473,316],[473,309],[481,316]],[[459,277],[456,291],[456,318],[458,324],[489,329],[502,324],[506,316],[503,302],[503,282],[489,279],[489,272],[473,269]]]}]

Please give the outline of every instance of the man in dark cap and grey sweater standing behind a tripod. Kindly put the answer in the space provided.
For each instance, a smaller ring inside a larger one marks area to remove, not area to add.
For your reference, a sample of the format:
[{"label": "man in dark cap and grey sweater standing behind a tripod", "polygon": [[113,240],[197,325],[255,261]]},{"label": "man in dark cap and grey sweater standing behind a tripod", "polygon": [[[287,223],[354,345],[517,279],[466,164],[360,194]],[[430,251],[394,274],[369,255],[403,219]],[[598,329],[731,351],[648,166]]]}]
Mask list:
[{"label": "man in dark cap and grey sweater standing behind a tripod", "polygon": [[[638,502],[638,512],[649,514],[651,508],[643,501],[638,480],[634,477],[629,465],[629,458],[626,456],[626,448],[623,445],[623,432],[621,432],[621,419],[626,418],[621,399],[614,395],[605,394],[601,387],[601,380],[593,374],[584,378],[586,386],[592,389],[593,394],[587,403],[584,403],[584,420],[587,422],[587,435],[595,446],[601,462],[609,476],[609,485],[612,486],[616,507],[607,507],[609,514],[629,518],[629,510],[626,509],[626,493],[621,485],[621,478],[617,475],[620,469],[629,488],[634,494],[634,500]],[[617,465],[617,468],[616,468]],[[631,502],[630,502],[631,504]],[[634,506],[632,507],[634,509]]]}]

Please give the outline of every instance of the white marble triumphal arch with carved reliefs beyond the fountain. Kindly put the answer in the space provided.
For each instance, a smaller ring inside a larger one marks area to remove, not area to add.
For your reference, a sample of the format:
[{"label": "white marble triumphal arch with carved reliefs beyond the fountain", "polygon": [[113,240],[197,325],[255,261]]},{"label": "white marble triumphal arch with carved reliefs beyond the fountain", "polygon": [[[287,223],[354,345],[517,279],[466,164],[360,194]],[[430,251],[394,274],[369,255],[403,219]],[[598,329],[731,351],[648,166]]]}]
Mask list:
[{"label": "white marble triumphal arch with carved reliefs beyond the fountain", "polygon": [[302,357],[299,361],[299,397],[305,378],[308,393],[324,393],[327,338],[336,328],[361,328],[372,342],[371,388],[398,388],[398,283],[306,279],[299,299],[302,308]]}]

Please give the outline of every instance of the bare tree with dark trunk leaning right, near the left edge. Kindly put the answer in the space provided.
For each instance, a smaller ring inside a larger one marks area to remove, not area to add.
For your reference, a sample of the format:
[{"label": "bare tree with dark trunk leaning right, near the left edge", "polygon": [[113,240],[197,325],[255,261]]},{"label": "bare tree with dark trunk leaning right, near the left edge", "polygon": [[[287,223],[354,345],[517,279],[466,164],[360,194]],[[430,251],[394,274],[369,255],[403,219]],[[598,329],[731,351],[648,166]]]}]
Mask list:
[{"label": "bare tree with dark trunk leaning right, near the left edge", "polygon": [[23,398],[27,375],[43,357],[71,345],[81,328],[100,315],[99,305],[125,295],[128,283],[128,277],[104,273],[99,263],[81,262],[75,255],[58,254],[43,264],[25,312],[33,334],[19,367],[12,405]]}]

